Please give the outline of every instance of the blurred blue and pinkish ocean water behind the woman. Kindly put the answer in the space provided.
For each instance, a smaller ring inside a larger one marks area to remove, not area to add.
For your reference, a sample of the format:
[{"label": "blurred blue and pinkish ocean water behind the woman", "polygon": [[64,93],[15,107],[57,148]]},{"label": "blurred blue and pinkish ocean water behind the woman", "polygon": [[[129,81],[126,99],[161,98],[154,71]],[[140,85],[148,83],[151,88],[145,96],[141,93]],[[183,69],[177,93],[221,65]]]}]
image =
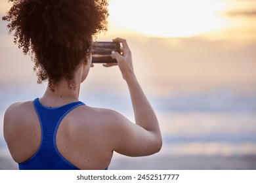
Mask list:
[{"label": "blurred blue and pinkish ocean water behind the woman", "polygon": [[[9,86],[0,90],[0,161],[1,158],[9,158],[11,161],[3,138],[3,116],[6,108],[15,101],[33,100],[35,97],[40,97],[44,92],[45,85],[38,86],[38,88],[16,87],[18,86]],[[165,97],[150,95],[148,99],[156,111],[163,136],[163,147],[158,154],[153,156],[153,159],[196,157],[200,161],[205,157],[221,157],[223,159],[255,157],[256,93],[254,88],[249,90],[215,88],[200,92],[184,90],[183,92],[173,92],[170,96]],[[89,106],[112,108],[134,121],[131,101],[127,93],[108,90],[104,90],[104,92],[102,90],[99,92],[89,91],[82,93],[80,100]],[[119,154],[115,154],[113,159],[116,162],[113,165],[114,169],[122,167],[117,162],[128,164],[131,162],[125,161],[127,157]],[[145,158],[133,160],[135,164],[128,166],[129,169],[138,168],[140,161],[150,161],[150,156],[146,160],[143,159]],[[256,163],[255,158],[250,161]],[[194,168],[203,169],[203,167],[198,167],[195,162]],[[162,165],[158,163],[158,167],[155,169],[175,169],[173,164],[170,165],[172,167],[168,167],[166,161],[161,161],[161,163]],[[231,163],[231,165],[233,164]],[[177,163],[177,167],[179,168],[179,163]],[[193,169],[193,166],[188,165],[184,165],[183,168],[186,169],[186,167]],[[209,166],[208,169],[215,167]],[[152,168],[154,169],[154,167]],[[232,168],[232,166],[227,167],[227,169]],[[251,167],[245,166],[244,169],[251,169]]]}]

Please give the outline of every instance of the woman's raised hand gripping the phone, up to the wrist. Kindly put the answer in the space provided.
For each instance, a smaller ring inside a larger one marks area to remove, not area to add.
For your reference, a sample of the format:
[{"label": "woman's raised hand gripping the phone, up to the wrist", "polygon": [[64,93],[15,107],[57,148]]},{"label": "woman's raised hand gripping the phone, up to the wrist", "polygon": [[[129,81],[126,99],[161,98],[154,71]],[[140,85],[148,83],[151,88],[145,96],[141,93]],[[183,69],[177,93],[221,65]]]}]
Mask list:
[{"label": "woman's raised hand gripping the phone, up to the wrist", "polygon": [[125,39],[116,38],[113,39],[113,42],[120,42],[123,45],[123,47],[121,48],[121,52],[123,52],[123,55],[121,56],[121,54],[119,54],[118,52],[112,52],[111,57],[113,59],[116,59],[117,63],[106,63],[104,64],[104,67],[112,67],[114,65],[118,65],[123,75],[123,78],[127,80],[131,76],[134,76],[131,50],[129,49],[129,46]]}]

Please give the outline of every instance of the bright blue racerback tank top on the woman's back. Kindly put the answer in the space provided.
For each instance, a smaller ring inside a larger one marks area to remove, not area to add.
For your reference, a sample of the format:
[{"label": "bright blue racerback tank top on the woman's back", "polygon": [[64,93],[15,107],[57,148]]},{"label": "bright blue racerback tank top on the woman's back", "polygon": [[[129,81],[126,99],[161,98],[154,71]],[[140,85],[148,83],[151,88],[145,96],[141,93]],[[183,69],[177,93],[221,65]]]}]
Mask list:
[{"label": "bright blue racerback tank top on the woman's back", "polygon": [[41,124],[41,144],[32,158],[18,163],[20,170],[78,170],[68,162],[56,148],[56,131],[62,119],[75,107],[85,105],[77,101],[62,107],[44,107],[39,99],[33,101]]}]

